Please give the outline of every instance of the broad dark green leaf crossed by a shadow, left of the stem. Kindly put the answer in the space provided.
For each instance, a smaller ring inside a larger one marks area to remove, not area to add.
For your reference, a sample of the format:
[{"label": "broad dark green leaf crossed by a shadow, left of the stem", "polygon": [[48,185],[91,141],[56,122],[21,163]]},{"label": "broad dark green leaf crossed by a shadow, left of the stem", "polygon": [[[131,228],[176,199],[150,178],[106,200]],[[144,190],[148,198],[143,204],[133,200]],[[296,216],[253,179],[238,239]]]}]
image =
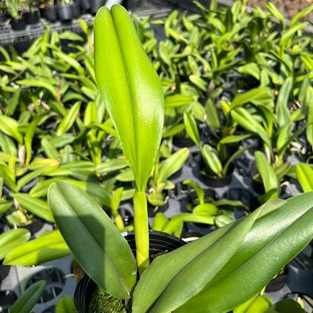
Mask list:
[{"label": "broad dark green leaf crossed by a shadow, left of the stem", "polygon": [[135,257],[111,219],[82,189],[59,181],[48,200],[62,237],[89,276],[108,293],[129,298],[137,277]]}]

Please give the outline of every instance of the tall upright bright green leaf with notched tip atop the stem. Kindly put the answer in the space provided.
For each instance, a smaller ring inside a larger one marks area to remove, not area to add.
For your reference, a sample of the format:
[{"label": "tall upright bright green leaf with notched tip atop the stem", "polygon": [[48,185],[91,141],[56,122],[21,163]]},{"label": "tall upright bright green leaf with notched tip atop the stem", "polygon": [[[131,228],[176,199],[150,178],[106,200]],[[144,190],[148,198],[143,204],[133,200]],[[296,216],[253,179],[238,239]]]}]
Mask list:
[{"label": "tall upright bright green leaf with notched tip atop the stem", "polygon": [[143,191],[159,150],[164,97],[135,26],[120,5],[97,12],[95,77],[137,189]]}]

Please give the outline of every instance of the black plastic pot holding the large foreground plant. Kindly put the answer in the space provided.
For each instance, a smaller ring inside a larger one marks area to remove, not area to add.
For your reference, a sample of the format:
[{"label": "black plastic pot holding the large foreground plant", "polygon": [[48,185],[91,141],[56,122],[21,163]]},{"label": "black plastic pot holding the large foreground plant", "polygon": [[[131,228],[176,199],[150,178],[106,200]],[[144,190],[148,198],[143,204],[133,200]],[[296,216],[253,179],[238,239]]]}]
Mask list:
[{"label": "black plastic pot holding the large foreground plant", "polygon": [[[123,233],[123,235],[135,255],[135,234],[130,232]],[[149,243],[150,259],[154,259],[160,253],[173,251],[185,244],[183,240],[161,231],[150,231]],[[88,313],[89,303],[96,288],[97,284],[88,275],[82,277],[74,294],[74,301],[79,313]]]}]

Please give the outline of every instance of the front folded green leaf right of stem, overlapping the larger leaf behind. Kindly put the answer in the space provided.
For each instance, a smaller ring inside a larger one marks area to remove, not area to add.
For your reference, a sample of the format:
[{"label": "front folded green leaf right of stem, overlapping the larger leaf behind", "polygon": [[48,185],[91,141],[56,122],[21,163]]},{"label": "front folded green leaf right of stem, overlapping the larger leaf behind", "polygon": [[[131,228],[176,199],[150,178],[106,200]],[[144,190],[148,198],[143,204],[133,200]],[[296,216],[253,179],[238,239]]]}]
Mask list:
[{"label": "front folded green leaf right of stem, overlapping the larger leaf behind", "polygon": [[[171,312],[194,297],[227,264],[251,229],[255,218],[257,213],[235,224],[228,232],[226,229],[220,229],[220,232],[213,232],[214,235],[202,237],[196,244],[188,244],[189,253],[185,257],[181,255],[182,247],[155,259],[137,284],[132,310],[138,313]],[[171,259],[175,259],[175,262]],[[164,273],[165,266],[167,275],[158,275],[158,280],[151,283],[150,288],[150,275],[155,273],[157,268],[159,273]],[[205,307],[207,305],[202,306],[201,310]],[[194,309],[189,312],[194,312]]]}]

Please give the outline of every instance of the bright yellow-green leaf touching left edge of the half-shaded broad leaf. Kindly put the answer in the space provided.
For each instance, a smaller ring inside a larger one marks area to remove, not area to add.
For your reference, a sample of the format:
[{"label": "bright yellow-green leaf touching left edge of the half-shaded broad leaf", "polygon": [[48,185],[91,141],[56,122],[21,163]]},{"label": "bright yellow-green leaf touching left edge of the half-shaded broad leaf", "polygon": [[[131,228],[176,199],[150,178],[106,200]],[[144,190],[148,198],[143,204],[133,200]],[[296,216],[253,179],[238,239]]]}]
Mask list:
[{"label": "bright yellow-green leaf touching left edge of the half-shaded broad leaf", "polygon": [[5,257],[5,265],[32,266],[69,255],[69,250],[60,231],[51,231],[25,244],[16,246]]}]

